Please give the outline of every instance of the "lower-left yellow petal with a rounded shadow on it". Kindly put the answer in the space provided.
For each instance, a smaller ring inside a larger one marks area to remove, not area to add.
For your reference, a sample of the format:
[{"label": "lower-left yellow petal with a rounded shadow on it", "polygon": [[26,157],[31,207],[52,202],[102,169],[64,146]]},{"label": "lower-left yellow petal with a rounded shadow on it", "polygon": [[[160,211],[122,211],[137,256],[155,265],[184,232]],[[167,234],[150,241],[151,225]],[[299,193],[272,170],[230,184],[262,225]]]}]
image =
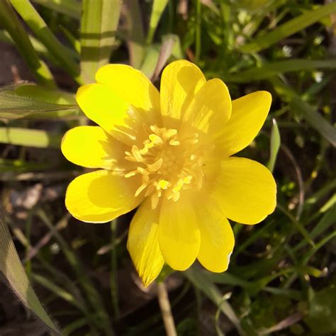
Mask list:
[{"label": "lower-left yellow petal with a rounded shadow on it", "polygon": [[125,179],[108,170],[83,174],[67,187],[65,206],[83,222],[108,222],[139,205],[143,198],[134,194],[140,184],[138,177]]}]

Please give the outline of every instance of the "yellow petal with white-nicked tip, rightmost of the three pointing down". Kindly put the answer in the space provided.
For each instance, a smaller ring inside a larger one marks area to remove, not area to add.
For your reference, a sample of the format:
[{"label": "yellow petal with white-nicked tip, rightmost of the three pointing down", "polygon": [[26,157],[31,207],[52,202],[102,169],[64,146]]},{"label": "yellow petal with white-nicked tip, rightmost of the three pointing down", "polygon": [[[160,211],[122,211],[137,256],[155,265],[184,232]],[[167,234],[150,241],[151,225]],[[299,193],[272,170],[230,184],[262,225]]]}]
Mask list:
[{"label": "yellow petal with white-nicked tip, rightmost of the three pointing down", "polygon": [[201,231],[198,261],[209,271],[226,271],[235,245],[230,223],[220,208],[209,201],[198,208],[197,218]]}]

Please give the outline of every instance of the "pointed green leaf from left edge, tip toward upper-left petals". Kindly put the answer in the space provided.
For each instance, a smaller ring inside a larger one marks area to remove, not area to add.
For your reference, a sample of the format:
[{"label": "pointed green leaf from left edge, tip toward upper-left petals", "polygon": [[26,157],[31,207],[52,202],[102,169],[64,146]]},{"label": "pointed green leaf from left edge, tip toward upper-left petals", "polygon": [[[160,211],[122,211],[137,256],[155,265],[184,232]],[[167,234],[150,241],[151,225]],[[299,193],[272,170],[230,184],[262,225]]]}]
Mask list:
[{"label": "pointed green leaf from left edge, tip toward upper-left petals", "polygon": [[[19,89],[19,93],[22,91],[41,91],[43,89]],[[59,91],[52,91],[59,92]],[[36,92],[34,92],[36,94]],[[55,99],[57,94],[49,96],[49,99]],[[69,96],[65,96],[64,99],[69,99]],[[57,99],[62,100],[60,97]],[[16,94],[15,91],[2,90],[0,91],[0,118],[5,119],[78,119],[83,117],[83,113],[80,111],[77,104],[65,104],[63,103],[49,103],[45,101],[41,96],[21,96]]]}]

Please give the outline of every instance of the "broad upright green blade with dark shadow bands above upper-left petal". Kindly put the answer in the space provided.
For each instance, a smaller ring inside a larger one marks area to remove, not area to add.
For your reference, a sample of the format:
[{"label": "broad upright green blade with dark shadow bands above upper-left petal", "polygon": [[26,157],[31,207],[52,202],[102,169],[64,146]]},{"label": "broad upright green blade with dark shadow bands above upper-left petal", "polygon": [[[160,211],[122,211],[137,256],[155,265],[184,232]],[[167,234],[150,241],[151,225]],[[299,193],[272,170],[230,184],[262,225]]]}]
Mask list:
[{"label": "broad upright green blade with dark shadow bands above upper-left petal", "polygon": [[83,0],[81,21],[81,72],[84,82],[94,82],[97,70],[108,64],[116,43],[120,0]]}]

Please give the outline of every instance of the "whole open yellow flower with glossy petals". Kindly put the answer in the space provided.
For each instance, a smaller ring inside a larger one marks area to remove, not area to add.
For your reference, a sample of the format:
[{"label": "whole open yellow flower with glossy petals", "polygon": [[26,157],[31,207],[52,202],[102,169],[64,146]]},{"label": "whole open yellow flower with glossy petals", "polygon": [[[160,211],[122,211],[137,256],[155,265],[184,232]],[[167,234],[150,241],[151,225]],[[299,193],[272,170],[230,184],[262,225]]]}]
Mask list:
[{"label": "whole open yellow flower with glossy petals", "polygon": [[220,79],[206,81],[186,60],[164,69],[160,94],[127,65],[102,67],[96,82],[79,88],[77,102],[99,126],[73,128],[62,140],[69,161],[98,169],[69,184],[69,212],[103,223],[140,206],[128,250],[145,286],[164,262],[182,271],[197,258],[225,271],[235,243],[227,218],[255,224],[276,206],[269,170],[231,157],[262,128],[271,94],[231,101]]}]

